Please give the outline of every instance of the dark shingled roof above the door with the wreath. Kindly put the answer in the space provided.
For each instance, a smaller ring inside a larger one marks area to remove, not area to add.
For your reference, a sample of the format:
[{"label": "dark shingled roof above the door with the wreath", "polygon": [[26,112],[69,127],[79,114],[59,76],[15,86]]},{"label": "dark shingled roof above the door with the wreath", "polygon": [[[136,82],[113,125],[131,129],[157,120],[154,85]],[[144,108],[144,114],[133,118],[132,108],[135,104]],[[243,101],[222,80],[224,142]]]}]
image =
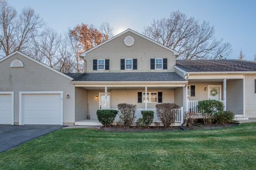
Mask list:
[{"label": "dark shingled roof above the door with the wreath", "polygon": [[186,72],[256,72],[256,63],[244,60],[176,60]]}]

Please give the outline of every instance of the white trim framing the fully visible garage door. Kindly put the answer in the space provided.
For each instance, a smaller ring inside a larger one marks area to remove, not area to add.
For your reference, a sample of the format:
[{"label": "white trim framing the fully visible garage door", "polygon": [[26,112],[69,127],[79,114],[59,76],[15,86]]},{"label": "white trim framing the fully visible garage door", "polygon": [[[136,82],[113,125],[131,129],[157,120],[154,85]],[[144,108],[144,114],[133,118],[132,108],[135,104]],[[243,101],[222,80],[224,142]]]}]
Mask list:
[{"label": "white trim framing the fully visible garage door", "polygon": [[60,94],[60,125],[63,125],[63,91],[19,91],[19,125],[23,125],[22,95],[25,94]]}]

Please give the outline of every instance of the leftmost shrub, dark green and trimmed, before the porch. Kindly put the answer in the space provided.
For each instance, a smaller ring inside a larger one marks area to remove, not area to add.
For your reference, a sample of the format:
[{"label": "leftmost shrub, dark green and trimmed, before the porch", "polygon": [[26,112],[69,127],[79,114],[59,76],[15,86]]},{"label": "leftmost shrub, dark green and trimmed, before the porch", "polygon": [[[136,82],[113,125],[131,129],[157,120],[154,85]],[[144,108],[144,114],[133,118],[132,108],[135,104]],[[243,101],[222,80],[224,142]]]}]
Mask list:
[{"label": "leftmost shrub, dark green and trimmed, before the porch", "polygon": [[114,122],[117,115],[116,110],[98,110],[97,117],[101,124],[109,127],[111,123]]}]

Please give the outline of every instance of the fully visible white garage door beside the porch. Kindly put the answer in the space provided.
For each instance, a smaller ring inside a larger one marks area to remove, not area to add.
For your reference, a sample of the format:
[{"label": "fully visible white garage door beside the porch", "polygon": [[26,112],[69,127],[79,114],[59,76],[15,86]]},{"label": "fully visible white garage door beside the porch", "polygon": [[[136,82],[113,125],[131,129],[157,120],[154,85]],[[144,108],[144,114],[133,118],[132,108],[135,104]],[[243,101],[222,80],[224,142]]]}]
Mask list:
[{"label": "fully visible white garage door beside the porch", "polygon": [[22,94],[22,124],[62,124],[60,94]]}]

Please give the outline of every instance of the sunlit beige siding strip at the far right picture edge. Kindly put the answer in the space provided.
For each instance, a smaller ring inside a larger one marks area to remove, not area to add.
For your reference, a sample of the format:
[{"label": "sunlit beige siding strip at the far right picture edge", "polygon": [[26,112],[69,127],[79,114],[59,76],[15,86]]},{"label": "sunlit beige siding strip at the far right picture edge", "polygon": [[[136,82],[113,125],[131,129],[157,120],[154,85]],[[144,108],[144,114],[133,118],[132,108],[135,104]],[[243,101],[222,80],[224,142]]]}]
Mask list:
[{"label": "sunlit beige siding strip at the far right picture edge", "polygon": [[245,75],[245,117],[256,118],[256,75]]}]

